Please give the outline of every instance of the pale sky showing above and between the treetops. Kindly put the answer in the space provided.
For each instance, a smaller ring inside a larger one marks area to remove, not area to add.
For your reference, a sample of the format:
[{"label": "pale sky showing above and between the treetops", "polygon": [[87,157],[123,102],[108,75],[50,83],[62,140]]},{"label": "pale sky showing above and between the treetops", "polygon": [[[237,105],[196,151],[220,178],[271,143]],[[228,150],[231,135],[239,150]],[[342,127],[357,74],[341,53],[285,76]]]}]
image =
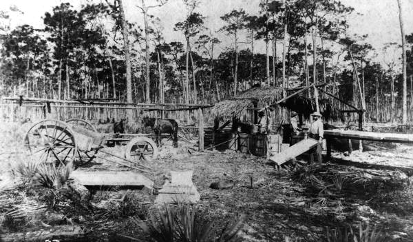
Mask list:
[{"label": "pale sky showing above and between the treetops", "polygon": [[[89,0],[91,1],[91,0]],[[51,11],[53,6],[67,2],[61,0],[1,0],[0,10],[7,10],[9,6],[17,6],[23,14],[14,12],[11,15],[12,26],[18,26],[23,23],[28,23],[36,28],[43,27],[44,13]],[[79,8],[81,4],[85,4],[88,0],[72,0],[69,1],[72,6]],[[94,0],[100,2],[100,0]],[[103,2],[105,2],[103,0]],[[134,21],[138,25],[143,26],[143,17],[139,6],[140,0],[123,0],[125,5],[125,14],[129,21]],[[145,0],[147,6],[154,5],[156,0]],[[225,38],[223,33],[215,33],[219,30],[224,22],[220,19],[226,12],[231,12],[233,9],[243,8],[248,14],[257,14],[259,12],[258,3],[260,0],[201,0],[198,12],[201,12],[206,19],[206,26],[220,39]],[[385,43],[396,42],[401,43],[401,32],[399,26],[399,8],[397,0],[341,0],[346,6],[352,6],[354,13],[348,17],[350,25],[350,35],[352,34],[368,34],[366,41],[373,48],[381,52]],[[413,0],[401,0],[403,6],[403,19],[405,22],[405,33],[413,32]],[[169,0],[165,6],[159,8],[151,8],[149,14],[153,14],[160,18],[163,27],[163,34],[167,42],[182,41],[183,36],[180,32],[173,31],[173,26],[178,21],[183,21],[186,16],[186,10],[182,0]],[[225,42],[222,47],[229,44]],[[279,48],[281,49],[281,48]],[[265,52],[263,43],[257,43],[255,47],[257,52]]]}]

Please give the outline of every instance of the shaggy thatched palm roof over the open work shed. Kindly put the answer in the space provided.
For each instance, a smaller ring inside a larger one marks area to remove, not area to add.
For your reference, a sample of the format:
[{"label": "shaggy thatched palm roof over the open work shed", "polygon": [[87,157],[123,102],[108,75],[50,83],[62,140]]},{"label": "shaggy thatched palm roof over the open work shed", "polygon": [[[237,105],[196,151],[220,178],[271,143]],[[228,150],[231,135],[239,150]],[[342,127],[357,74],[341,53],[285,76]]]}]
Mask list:
[{"label": "shaggy thatched palm roof over the open work shed", "polygon": [[[262,108],[266,105],[273,105],[275,109],[277,109],[275,103],[283,98],[282,92],[282,88],[275,87],[252,88],[241,92],[236,97],[215,103],[211,114],[214,117],[220,116],[228,118],[234,115],[241,116],[242,114],[246,114],[248,108]],[[302,95],[287,99],[283,103],[280,103],[279,106],[304,114],[305,117],[310,117],[310,114],[316,110],[315,99],[310,99]],[[334,108],[329,99],[320,99],[319,108],[325,119],[341,119],[342,115],[340,110]]]}]

